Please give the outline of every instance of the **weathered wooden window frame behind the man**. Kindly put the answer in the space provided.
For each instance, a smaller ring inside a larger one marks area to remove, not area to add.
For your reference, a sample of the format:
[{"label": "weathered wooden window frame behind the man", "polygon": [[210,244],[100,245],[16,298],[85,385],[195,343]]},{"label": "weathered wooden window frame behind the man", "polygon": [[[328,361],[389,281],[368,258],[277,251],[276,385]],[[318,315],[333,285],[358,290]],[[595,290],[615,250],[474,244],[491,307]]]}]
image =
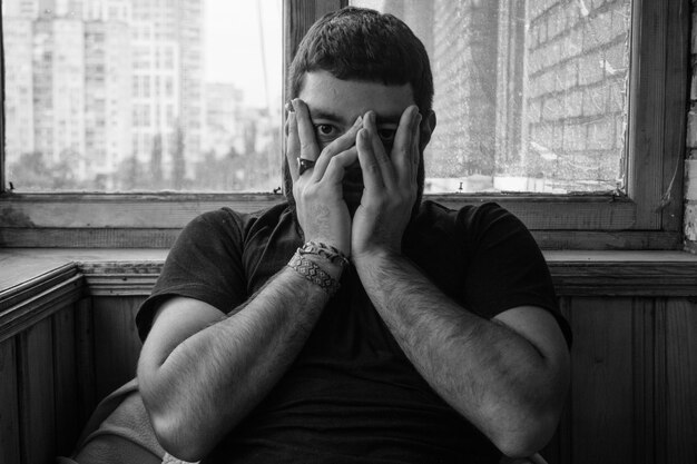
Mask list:
[{"label": "weathered wooden window frame behind the man", "polygon": [[[315,19],[346,3],[284,1],[284,69]],[[519,216],[546,249],[681,249],[689,2],[634,0],[632,8],[626,196],[426,198],[452,208],[497,201]],[[3,127],[4,112],[2,140]],[[203,211],[223,206],[253,211],[284,199],[271,194],[18,194],[7,190],[3,151],[0,189],[0,247],[166,248]]]}]

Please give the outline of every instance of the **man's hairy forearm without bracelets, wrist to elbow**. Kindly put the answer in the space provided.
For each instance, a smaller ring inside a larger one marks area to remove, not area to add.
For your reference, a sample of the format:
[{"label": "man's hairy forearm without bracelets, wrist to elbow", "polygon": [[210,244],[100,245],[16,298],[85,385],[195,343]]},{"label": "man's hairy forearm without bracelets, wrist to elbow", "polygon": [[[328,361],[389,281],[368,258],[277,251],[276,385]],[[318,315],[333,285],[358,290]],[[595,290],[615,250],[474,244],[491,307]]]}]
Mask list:
[{"label": "man's hairy forearm without bracelets, wrist to elbow", "polygon": [[459,306],[402,256],[373,255],[356,268],[412,364],[502,451],[556,424],[563,382],[530,342]]}]

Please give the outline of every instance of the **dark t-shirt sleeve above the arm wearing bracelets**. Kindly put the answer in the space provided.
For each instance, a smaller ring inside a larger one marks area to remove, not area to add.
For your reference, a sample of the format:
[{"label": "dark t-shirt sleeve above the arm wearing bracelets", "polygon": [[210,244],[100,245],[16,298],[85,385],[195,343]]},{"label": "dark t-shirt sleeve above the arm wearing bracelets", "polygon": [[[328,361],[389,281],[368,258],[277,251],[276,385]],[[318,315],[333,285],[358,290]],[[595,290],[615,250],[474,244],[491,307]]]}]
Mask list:
[{"label": "dark t-shirt sleeve above the arm wearing bracelets", "polygon": [[228,313],[247,299],[243,265],[243,220],[227,209],[203,214],[179,234],[150,296],[140,305],[136,325],[145,340],[157,308],[184,296]]}]

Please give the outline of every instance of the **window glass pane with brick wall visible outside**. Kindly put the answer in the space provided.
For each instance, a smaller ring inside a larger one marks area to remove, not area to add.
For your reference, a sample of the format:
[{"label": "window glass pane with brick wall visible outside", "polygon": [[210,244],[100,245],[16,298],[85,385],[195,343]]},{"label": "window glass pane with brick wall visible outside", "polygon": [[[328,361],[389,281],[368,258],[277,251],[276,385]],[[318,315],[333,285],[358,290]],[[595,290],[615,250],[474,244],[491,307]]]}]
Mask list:
[{"label": "window glass pane with brick wall visible outside", "polygon": [[630,0],[353,0],[432,60],[426,191],[624,187]]}]

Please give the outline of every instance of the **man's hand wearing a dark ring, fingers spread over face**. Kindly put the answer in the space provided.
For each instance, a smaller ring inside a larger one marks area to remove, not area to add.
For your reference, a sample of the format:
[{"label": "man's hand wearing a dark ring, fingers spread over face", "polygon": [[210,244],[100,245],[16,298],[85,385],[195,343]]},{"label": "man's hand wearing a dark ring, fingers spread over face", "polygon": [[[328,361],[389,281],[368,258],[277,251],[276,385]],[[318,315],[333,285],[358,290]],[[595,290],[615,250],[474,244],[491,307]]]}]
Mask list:
[{"label": "man's hand wearing a dark ring, fingers spread over face", "polygon": [[[361,118],[346,134],[320,151],[315,129],[304,101],[293,100],[288,113],[286,158],[293,177],[297,220],[306,241],[321,241],[351,255],[351,216],[343,198],[345,169],[357,159],[355,139]],[[301,176],[297,157],[316,161]]]}]

